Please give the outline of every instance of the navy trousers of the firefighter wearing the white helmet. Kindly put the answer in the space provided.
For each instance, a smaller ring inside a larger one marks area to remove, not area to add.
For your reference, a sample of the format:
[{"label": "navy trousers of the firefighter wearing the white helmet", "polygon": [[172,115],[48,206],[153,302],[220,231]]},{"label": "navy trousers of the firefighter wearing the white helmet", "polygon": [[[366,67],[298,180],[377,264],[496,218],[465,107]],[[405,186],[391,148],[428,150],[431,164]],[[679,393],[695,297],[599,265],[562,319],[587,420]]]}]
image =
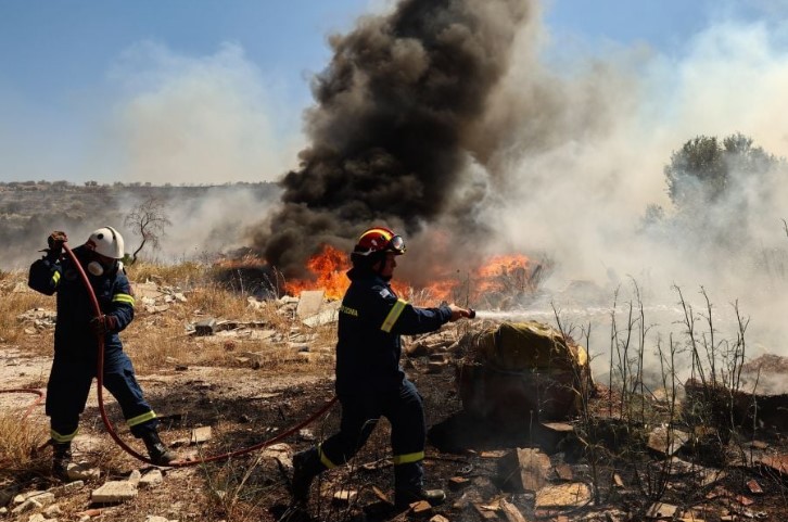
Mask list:
[{"label": "navy trousers of the firefighter wearing the white helmet", "polygon": [[[55,351],[47,384],[47,415],[53,438],[71,441],[76,435],[79,416],[85,411],[90,385],[96,378],[97,359]],[[131,359],[123,349],[107,348],[104,354],[104,387],[115,397],[131,434],[141,437],[155,430],[158,420],[142,396]]]}]

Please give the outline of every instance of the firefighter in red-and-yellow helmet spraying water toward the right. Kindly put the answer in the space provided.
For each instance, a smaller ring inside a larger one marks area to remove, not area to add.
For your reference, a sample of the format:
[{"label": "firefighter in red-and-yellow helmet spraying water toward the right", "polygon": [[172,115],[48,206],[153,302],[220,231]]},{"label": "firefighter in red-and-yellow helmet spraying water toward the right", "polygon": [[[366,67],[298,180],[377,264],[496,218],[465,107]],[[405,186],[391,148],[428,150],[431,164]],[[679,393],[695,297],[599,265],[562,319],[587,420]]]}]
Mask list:
[{"label": "firefighter in red-and-yellow helmet spraying water toward the right", "polygon": [[339,314],[335,390],[342,405],[340,431],[293,457],[292,507],[304,510],[316,475],[349,460],[381,416],[391,423],[394,495],[397,509],[417,500],[436,505],[441,489],[423,485],[424,411],[416,386],[399,366],[401,334],[432,332],[469,317],[455,305],[418,308],[398,298],[389,284],[403,238],[384,227],[366,230],[351,254],[351,285]]}]

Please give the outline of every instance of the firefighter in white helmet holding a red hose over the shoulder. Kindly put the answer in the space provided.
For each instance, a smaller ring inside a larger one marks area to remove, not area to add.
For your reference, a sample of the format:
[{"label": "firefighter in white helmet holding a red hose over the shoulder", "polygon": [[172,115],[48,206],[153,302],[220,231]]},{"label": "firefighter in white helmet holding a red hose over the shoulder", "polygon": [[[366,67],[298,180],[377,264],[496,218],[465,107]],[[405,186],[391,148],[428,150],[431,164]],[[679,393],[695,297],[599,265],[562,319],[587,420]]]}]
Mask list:
[{"label": "firefighter in white helmet holding a red hose over the shoulder", "polygon": [[112,227],[90,234],[73,253],[88,275],[101,308],[96,317],[92,301],[73,260],[62,255],[64,232],[52,232],[46,255],[30,265],[28,285],[45,295],[58,293],[54,359],[47,384],[46,411],[53,447],[52,472],[67,480],[72,441],[96,377],[99,336],[104,341],[104,387],[117,399],[134,436],[142,438],[151,460],[166,466],[175,460],[158,437],[156,413],[142,396],[131,359],[118,333],[134,319],[135,298],[120,258],[123,237]]}]

